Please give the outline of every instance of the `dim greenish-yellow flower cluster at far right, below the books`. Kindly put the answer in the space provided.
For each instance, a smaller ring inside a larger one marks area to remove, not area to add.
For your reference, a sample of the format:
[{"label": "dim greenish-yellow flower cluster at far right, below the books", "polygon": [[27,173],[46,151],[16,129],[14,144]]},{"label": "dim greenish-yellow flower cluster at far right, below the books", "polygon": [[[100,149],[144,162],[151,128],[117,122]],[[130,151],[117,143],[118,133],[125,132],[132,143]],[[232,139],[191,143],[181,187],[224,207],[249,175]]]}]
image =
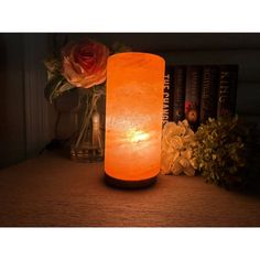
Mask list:
[{"label": "dim greenish-yellow flower cluster at far right, below the books", "polygon": [[252,133],[252,128],[237,116],[201,124],[194,152],[202,176],[227,188],[247,185],[253,173],[246,170],[253,158]]}]

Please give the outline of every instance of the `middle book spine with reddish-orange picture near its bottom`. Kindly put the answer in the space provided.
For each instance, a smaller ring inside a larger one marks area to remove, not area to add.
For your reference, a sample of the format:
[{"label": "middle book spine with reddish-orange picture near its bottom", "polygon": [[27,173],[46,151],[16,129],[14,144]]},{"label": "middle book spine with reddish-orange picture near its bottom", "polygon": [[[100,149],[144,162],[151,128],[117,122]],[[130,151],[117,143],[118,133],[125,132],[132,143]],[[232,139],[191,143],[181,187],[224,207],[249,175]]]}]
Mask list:
[{"label": "middle book spine with reddish-orange picture near its bottom", "polygon": [[196,130],[199,118],[202,66],[187,66],[185,89],[185,118]]}]

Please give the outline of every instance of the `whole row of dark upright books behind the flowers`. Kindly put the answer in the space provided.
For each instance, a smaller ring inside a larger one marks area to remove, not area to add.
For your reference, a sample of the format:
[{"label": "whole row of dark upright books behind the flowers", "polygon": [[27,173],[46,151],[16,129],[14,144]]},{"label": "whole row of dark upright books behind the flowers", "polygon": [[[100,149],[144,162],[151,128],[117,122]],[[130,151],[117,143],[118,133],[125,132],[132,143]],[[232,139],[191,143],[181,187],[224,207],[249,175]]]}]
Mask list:
[{"label": "whole row of dark upright books behind the flowers", "polygon": [[236,112],[238,65],[166,66],[163,124],[187,119],[196,128],[208,118]]}]

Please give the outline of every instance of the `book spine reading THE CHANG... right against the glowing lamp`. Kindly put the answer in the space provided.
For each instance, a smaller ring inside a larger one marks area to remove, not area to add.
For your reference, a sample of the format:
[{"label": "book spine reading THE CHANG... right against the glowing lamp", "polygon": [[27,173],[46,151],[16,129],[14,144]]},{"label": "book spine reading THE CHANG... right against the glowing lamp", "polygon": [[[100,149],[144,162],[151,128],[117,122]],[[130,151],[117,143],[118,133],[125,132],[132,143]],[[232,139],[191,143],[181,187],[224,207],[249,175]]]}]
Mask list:
[{"label": "book spine reading THE CHANG... right against the glowing lamp", "polygon": [[171,66],[165,67],[163,90],[163,126],[173,120],[173,84]]}]

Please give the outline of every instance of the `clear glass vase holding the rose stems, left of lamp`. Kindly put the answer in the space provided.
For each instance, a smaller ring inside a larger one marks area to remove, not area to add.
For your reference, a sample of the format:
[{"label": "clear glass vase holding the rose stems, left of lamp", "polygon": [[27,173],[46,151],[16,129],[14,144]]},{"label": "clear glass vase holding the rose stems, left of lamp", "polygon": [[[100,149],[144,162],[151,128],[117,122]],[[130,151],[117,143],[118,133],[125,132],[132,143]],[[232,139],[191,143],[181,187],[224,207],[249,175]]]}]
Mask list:
[{"label": "clear glass vase holding the rose stems, left of lamp", "polygon": [[78,88],[76,132],[72,139],[71,159],[78,162],[104,161],[105,86]]}]

